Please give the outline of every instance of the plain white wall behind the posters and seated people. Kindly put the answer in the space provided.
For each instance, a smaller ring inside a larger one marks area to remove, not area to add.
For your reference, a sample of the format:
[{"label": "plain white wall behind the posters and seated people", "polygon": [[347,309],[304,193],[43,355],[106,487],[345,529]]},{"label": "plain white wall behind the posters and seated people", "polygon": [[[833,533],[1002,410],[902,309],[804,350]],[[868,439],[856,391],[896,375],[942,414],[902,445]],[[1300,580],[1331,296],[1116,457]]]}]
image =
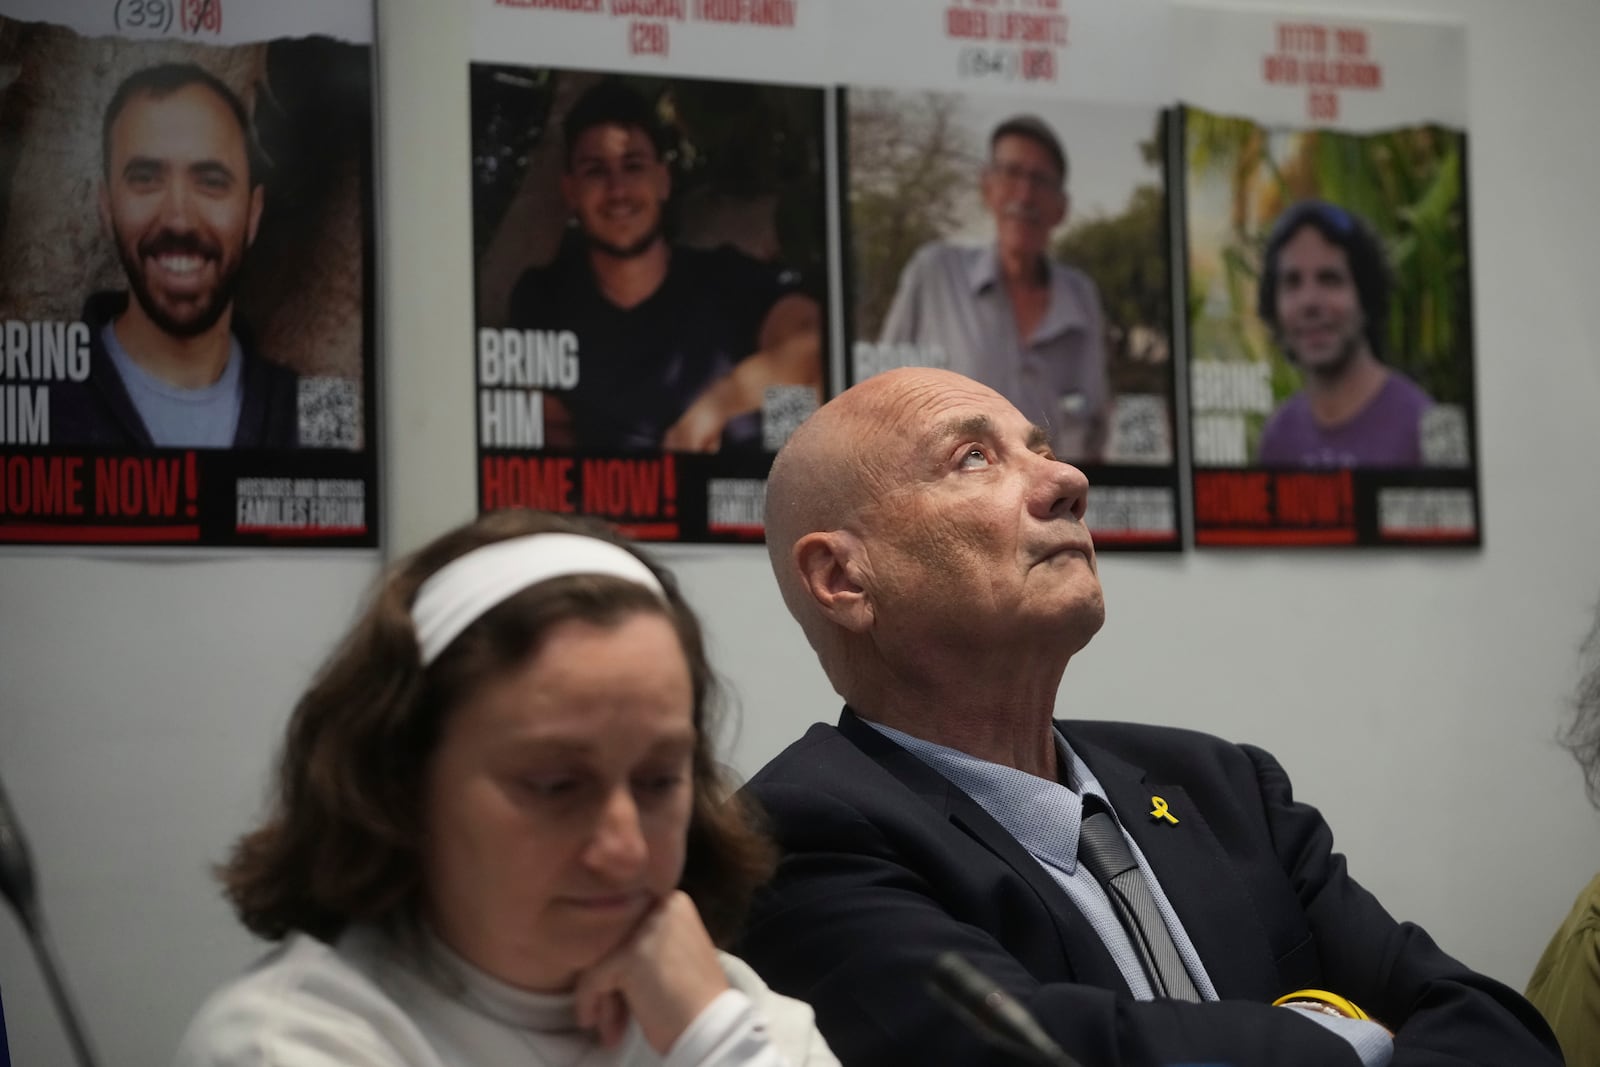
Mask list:
[{"label": "plain white wall behind the posters and seated people", "polygon": [[[1600,817],[1550,742],[1600,593],[1600,5],[1387,10],[1470,26],[1486,545],[1106,557],[1109,621],[1061,707],[1267,745],[1390,910],[1520,985],[1600,867]],[[472,509],[466,30],[445,0],[379,13],[387,446],[406,498],[389,533],[405,549]],[[758,549],[664,555],[741,697],[747,774],[835,701]],[[0,558],[0,777],[106,1064],[165,1062],[205,990],[256,952],[206,865],[248,825],[288,707],[374,568]],[[14,1062],[67,1064],[6,918],[0,990]]]}]

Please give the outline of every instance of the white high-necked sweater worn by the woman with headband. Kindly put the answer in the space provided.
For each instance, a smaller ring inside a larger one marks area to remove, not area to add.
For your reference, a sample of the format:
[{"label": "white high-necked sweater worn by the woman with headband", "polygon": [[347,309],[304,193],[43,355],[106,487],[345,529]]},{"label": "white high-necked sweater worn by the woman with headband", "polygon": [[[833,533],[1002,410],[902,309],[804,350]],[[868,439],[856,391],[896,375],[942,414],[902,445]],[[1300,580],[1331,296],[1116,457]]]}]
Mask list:
[{"label": "white high-necked sweater worn by the woman with headband", "polygon": [[571,997],[506,985],[437,941],[419,961],[373,928],[294,934],[206,1000],[174,1067],[837,1067],[808,1005],[734,957],[722,968],[733,989],[661,1057],[637,1025],[600,1048]]}]

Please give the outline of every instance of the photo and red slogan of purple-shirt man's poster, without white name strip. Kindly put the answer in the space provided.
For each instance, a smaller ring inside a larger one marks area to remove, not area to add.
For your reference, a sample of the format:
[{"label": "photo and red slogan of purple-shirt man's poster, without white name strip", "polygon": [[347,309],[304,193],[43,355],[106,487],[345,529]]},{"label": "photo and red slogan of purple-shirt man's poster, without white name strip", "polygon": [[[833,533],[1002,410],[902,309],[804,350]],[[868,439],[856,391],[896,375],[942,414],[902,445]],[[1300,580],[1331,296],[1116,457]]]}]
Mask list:
[{"label": "photo and red slogan of purple-shirt man's poster, without white name strip", "polygon": [[1181,139],[1195,544],[1480,544],[1466,134]]}]

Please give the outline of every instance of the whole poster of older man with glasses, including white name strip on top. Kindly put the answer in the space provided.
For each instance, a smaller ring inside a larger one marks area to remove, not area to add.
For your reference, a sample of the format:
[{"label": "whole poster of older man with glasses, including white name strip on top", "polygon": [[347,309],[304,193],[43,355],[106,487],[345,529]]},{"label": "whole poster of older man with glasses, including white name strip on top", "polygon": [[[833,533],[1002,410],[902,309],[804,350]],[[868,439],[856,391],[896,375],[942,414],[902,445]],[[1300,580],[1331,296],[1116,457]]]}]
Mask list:
[{"label": "whole poster of older man with glasses, including white name strip on top", "polygon": [[[1088,474],[1096,547],[1176,550],[1165,38],[1149,5],[1118,6],[837,16],[861,66],[840,120],[848,370],[984,382]],[[923,61],[869,80],[891,50]]]}]

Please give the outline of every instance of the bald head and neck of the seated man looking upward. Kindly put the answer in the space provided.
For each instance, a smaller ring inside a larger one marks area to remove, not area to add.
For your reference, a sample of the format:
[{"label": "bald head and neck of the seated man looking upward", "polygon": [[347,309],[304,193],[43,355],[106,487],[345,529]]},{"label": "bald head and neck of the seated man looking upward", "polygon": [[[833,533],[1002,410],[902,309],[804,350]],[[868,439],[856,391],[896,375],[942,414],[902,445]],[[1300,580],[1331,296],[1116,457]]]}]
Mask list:
[{"label": "bald head and neck of the seated man looking upward", "polygon": [[1104,619],[1086,494],[994,389],[906,368],[789,438],[768,475],[766,549],[834,689],[869,718],[915,723],[1003,693],[1048,723],[1061,672]]}]

